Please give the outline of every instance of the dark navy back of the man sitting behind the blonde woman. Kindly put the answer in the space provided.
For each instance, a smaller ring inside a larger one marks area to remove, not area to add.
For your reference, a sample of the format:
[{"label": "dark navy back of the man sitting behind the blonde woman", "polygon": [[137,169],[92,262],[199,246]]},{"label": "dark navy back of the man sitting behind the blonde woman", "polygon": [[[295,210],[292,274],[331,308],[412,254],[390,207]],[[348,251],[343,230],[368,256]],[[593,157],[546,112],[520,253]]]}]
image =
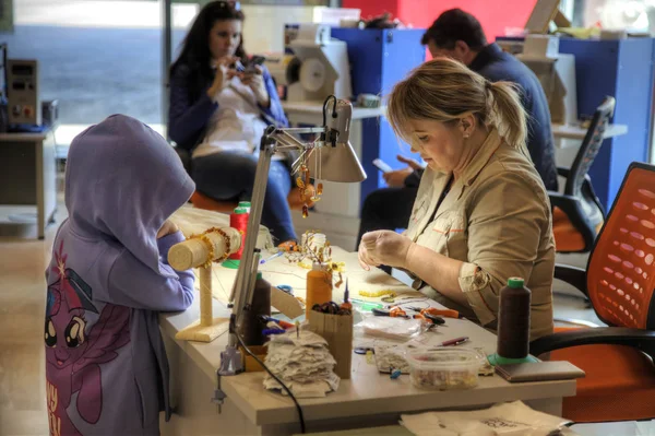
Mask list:
[{"label": "dark navy back of the man sitting behind the blonde woman", "polygon": [[485,47],[469,68],[491,82],[509,81],[521,86],[521,102],[528,115],[527,149],[548,190],[557,190],[555,143],[550,126],[550,109],[544,89],[537,76],[510,54],[496,44]]}]

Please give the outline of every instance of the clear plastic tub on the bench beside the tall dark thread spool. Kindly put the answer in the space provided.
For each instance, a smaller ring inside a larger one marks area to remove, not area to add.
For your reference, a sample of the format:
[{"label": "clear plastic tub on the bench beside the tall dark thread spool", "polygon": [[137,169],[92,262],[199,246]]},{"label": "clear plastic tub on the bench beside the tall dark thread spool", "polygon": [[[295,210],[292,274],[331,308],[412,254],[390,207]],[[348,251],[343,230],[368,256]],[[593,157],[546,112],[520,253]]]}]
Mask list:
[{"label": "clear plastic tub on the bench beside the tall dark thread spool", "polygon": [[478,384],[480,356],[474,350],[442,349],[409,352],[412,384],[420,389],[454,390],[471,389]]}]

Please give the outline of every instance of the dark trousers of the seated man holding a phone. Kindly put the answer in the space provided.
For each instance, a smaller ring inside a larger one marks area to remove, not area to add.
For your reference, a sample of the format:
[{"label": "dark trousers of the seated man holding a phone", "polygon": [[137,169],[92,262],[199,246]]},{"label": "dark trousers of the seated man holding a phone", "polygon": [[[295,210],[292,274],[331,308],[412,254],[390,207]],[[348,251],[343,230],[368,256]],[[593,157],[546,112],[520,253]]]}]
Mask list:
[{"label": "dark trousers of the seated man holding a phone", "polygon": [[[367,232],[407,228],[417,192],[418,187],[405,187],[383,188],[369,193],[366,200],[364,200],[359,235],[357,236],[357,247],[355,247],[355,250],[359,248],[361,236]],[[389,267],[382,267],[382,270],[391,273],[391,268]]]}]

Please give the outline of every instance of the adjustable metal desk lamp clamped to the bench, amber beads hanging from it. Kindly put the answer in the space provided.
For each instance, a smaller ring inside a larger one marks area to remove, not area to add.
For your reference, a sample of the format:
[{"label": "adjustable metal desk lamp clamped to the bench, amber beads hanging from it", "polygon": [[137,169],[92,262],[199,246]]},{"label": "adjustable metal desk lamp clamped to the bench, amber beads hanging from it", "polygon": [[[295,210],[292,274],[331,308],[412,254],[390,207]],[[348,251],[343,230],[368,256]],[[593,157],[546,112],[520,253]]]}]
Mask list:
[{"label": "adjustable metal desk lamp clamped to the bench, amber beads hanging from it", "polygon": [[[241,353],[237,349],[238,327],[245,310],[250,309],[254,291],[260,252],[255,250],[258,229],[262,217],[264,193],[269,181],[269,169],[273,155],[281,151],[300,152],[294,162],[296,174],[302,165],[315,168],[314,177],[327,181],[359,182],[366,179],[366,173],[349,142],[353,106],[349,102],[329,96],[323,104],[323,126],[312,128],[276,128],[269,126],[260,144],[260,155],[254,174],[250,217],[246,231],[243,256],[237,271],[231,291],[234,302],[229,319],[229,340],[221,353],[218,375],[231,376],[243,372]],[[294,133],[320,134],[317,141],[301,142]]]}]

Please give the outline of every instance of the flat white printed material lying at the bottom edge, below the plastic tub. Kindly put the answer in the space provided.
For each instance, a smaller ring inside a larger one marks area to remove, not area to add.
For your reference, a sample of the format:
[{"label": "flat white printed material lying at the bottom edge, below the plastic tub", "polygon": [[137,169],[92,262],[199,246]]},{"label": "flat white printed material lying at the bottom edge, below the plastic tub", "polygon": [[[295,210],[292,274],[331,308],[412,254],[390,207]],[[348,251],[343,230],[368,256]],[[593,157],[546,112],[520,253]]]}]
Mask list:
[{"label": "flat white printed material lying at the bottom edge, below the plastic tub", "polygon": [[570,421],[537,412],[522,401],[466,412],[401,415],[401,424],[416,436],[549,436]]}]

